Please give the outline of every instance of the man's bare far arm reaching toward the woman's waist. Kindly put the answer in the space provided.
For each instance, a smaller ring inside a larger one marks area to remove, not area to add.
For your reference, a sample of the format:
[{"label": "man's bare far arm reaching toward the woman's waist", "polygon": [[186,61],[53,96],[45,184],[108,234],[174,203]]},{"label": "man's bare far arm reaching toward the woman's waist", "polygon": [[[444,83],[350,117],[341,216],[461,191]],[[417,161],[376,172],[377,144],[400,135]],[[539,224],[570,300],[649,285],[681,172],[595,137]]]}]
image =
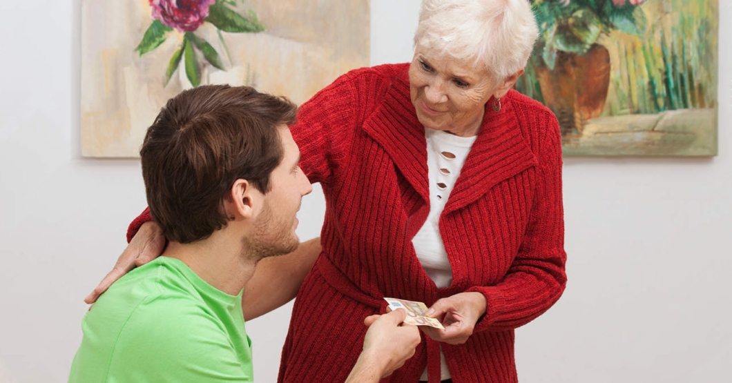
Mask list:
[{"label": "man's bare far arm reaching toward the woman's waist", "polygon": [[321,252],[320,237],[300,243],[290,254],[262,259],[244,285],[244,320],[251,320],[293,300]]}]

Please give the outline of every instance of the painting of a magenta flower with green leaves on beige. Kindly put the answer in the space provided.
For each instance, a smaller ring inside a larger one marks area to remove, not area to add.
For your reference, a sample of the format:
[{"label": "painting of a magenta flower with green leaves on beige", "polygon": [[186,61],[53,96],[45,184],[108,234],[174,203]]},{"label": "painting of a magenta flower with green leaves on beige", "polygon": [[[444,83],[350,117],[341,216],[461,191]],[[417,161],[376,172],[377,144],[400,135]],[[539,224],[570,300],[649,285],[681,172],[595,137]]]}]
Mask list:
[{"label": "painting of a magenta flower with green leaves on beige", "polygon": [[82,0],[81,149],[137,157],[160,107],[201,84],[307,101],[370,62],[368,0]]}]

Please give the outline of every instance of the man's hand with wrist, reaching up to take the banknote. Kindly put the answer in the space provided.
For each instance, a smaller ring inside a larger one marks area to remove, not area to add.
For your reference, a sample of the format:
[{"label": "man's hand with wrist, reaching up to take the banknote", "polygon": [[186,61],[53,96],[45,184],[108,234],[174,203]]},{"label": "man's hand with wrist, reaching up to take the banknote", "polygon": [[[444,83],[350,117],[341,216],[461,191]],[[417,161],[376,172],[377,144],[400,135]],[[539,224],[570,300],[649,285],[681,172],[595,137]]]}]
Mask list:
[{"label": "man's hand with wrist, reaching up to take the banknote", "polygon": [[402,325],[406,316],[406,311],[398,309],[364,319],[365,325],[369,326],[364,349],[346,383],[376,383],[414,355],[414,348],[422,338],[417,326]]}]

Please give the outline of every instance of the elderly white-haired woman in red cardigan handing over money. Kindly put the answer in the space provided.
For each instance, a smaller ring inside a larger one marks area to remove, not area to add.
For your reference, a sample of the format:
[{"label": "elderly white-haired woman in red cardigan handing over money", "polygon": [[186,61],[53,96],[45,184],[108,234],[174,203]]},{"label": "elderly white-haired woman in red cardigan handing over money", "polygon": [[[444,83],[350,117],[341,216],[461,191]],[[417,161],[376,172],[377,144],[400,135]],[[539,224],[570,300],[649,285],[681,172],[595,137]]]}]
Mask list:
[{"label": "elderly white-haired woman in red cardigan handing over money", "polygon": [[302,105],[292,134],[326,216],[302,288],[318,246],[286,277],[257,271],[299,288],[280,382],[345,380],[384,297],[446,327],[423,328],[390,382],[517,382],[514,329],[566,282],[559,126],[512,90],[537,34],[527,0],[425,0],[411,63],[354,70]]}]

